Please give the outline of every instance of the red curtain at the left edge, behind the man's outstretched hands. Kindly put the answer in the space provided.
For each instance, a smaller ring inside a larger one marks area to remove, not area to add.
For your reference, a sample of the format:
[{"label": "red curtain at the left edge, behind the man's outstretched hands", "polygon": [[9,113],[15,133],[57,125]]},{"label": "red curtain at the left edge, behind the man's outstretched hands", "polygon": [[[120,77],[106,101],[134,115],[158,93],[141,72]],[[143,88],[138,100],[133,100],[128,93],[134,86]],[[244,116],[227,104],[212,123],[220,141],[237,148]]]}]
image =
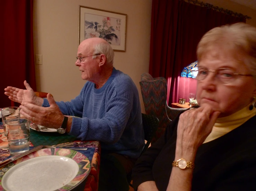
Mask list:
[{"label": "red curtain at the left edge, behind the man's outstretched hands", "polygon": [[33,50],[33,0],[1,0],[0,108],[10,107],[7,86],[24,89],[24,80],[36,91]]}]

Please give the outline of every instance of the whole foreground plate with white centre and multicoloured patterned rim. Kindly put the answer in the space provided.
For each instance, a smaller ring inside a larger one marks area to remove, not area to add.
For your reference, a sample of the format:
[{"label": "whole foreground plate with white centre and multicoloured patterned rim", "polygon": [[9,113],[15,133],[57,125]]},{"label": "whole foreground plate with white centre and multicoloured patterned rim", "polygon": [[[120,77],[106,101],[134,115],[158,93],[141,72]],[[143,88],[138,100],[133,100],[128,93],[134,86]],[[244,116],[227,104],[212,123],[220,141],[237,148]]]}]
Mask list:
[{"label": "whole foreground plate with white centre and multicoloured patterned rim", "polygon": [[0,188],[67,191],[79,185],[89,172],[89,160],[82,153],[69,149],[41,149],[3,167]]}]

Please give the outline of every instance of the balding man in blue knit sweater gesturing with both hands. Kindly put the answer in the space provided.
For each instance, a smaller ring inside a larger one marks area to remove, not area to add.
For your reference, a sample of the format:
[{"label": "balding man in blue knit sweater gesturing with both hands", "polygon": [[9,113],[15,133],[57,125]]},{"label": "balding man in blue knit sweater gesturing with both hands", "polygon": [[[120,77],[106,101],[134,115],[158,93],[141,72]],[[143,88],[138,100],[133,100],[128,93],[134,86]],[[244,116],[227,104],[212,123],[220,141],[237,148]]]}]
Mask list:
[{"label": "balding man in blue knit sweater gesturing with both hands", "polygon": [[[55,102],[51,94],[47,99],[36,97],[26,81],[26,90],[5,88],[10,100],[21,103],[20,113],[34,123],[56,128],[59,133],[67,132],[81,140],[101,141],[100,169],[103,170],[100,170],[99,181],[109,178],[109,174],[105,177],[103,174],[109,170],[104,167],[104,156],[115,157],[129,173],[144,146],[138,90],[128,75],[113,67],[113,59],[113,49],[105,40],[90,38],[82,41],[76,66],[87,82],[70,102]],[[113,168],[109,161],[106,165]],[[100,190],[108,190],[106,187],[108,185],[100,182]]]}]

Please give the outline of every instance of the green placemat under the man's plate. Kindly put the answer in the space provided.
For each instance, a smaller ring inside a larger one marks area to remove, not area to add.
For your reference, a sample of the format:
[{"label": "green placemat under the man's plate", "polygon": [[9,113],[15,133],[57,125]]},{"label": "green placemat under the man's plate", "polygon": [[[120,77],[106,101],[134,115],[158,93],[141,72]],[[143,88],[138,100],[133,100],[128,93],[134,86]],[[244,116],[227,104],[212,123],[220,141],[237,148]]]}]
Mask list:
[{"label": "green placemat under the man's plate", "polygon": [[30,141],[36,147],[38,145],[54,145],[60,143],[66,143],[77,140],[76,137],[71,135],[60,134],[60,133],[50,133],[50,132],[42,132],[42,131],[35,131],[30,128]]}]

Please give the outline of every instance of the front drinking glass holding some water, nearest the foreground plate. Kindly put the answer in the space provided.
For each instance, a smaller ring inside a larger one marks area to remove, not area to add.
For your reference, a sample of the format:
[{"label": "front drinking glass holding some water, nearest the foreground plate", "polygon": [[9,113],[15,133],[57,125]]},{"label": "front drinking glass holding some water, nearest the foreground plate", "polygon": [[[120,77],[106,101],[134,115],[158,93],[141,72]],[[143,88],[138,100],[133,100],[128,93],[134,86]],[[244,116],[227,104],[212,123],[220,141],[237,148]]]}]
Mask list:
[{"label": "front drinking glass holding some water, nearest the foreground plate", "polygon": [[11,156],[29,150],[29,124],[30,121],[23,118],[6,120],[7,140]]}]

